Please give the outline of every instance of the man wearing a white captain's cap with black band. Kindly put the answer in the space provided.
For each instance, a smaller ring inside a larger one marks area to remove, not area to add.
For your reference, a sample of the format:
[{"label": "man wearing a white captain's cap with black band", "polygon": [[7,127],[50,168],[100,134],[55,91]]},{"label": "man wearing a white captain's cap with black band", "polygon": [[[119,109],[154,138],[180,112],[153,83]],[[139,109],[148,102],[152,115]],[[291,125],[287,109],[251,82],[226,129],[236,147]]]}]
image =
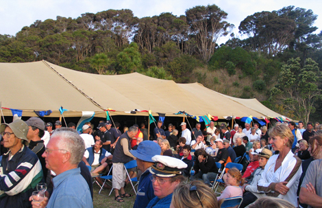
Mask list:
[{"label": "man wearing a white captain's cap with black band", "polygon": [[147,208],[152,207],[170,207],[172,194],[177,185],[184,181],[183,171],[187,164],[174,157],[156,155],[152,157],[155,164],[150,172],[154,195],[156,198],[150,201]]}]

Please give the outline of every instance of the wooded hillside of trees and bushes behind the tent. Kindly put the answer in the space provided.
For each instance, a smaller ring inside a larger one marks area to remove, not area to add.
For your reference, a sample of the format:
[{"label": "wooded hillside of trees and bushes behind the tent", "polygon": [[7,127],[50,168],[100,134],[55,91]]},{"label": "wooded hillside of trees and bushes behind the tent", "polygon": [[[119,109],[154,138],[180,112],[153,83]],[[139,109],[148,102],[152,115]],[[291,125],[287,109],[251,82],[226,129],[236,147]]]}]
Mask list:
[{"label": "wooded hillside of trees and bushes behind the tent", "polygon": [[[77,71],[138,71],[179,83],[199,82],[253,98],[273,111],[322,121],[322,31],[312,10],[288,6],[249,14],[240,25],[216,5],[139,19],[131,10],[35,21],[16,36],[0,34],[0,62],[47,60]],[[243,39],[232,29],[238,27]],[[219,38],[230,37],[219,45]],[[205,98],[206,99],[206,98]],[[206,100],[205,100],[206,102]]]}]

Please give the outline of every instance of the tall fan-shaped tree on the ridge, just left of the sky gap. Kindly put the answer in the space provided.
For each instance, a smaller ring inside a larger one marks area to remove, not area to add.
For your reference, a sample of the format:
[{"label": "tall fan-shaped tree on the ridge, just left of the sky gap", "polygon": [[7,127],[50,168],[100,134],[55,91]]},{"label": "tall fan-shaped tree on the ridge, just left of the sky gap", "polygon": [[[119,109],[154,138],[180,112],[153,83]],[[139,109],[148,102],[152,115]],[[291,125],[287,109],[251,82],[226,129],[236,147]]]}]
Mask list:
[{"label": "tall fan-shaped tree on the ridge, just left of the sky gap", "polygon": [[187,23],[190,25],[191,35],[196,37],[199,56],[208,62],[216,41],[221,36],[227,36],[228,30],[233,27],[227,21],[227,13],[216,5],[196,6],[186,10]]}]

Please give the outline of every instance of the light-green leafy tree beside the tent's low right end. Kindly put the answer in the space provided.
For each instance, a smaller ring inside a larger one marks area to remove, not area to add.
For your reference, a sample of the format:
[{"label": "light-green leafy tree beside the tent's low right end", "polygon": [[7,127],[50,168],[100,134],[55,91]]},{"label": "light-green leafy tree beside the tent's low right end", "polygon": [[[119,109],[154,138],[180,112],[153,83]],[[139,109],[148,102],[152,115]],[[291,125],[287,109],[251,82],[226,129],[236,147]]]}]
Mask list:
[{"label": "light-green leafy tree beside the tent's low right end", "polygon": [[293,111],[297,119],[306,123],[310,113],[314,113],[314,104],[321,97],[319,81],[321,73],[317,62],[306,59],[306,65],[301,68],[300,58],[290,58],[283,65],[277,85],[271,89],[271,100],[283,104],[286,111]]}]

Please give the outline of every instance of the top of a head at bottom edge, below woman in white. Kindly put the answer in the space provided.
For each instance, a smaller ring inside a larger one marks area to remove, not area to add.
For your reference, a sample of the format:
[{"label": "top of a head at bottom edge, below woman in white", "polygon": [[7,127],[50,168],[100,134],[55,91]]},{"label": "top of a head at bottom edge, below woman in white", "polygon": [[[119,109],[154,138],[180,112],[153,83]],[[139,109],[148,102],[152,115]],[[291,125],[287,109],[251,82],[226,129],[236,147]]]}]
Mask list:
[{"label": "top of a head at bottom edge, below woman in white", "polygon": [[287,200],[283,200],[275,197],[262,197],[256,200],[255,203],[252,203],[248,208],[295,208],[294,205],[289,203]]}]

